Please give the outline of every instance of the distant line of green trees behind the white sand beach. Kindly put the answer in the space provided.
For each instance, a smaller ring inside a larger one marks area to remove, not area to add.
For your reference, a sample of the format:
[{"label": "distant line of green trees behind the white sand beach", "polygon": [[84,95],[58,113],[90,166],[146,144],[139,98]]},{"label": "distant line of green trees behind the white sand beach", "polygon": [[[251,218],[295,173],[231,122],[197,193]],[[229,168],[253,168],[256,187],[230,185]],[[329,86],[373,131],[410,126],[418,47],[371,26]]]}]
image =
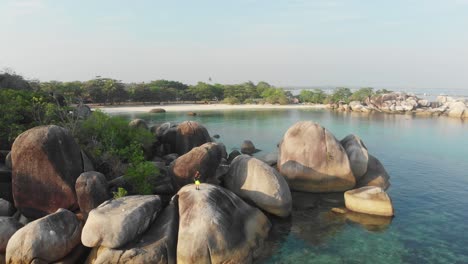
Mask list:
[{"label": "distant line of green trees behind the white sand beach", "polygon": [[234,85],[198,82],[187,85],[178,81],[156,80],[148,83],[123,83],[110,78],[95,78],[89,81],[39,82],[27,81],[14,73],[0,74],[0,89],[25,90],[49,93],[63,97],[68,102],[121,104],[123,102],[184,102],[184,101],[222,101],[229,104],[271,103],[288,104],[337,103],[340,101],[363,101],[365,98],[389,92],[372,88],[362,88],[352,93],[349,88],[336,88],[331,94],[321,89],[302,90],[298,96],[267,82],[245,82]]}]

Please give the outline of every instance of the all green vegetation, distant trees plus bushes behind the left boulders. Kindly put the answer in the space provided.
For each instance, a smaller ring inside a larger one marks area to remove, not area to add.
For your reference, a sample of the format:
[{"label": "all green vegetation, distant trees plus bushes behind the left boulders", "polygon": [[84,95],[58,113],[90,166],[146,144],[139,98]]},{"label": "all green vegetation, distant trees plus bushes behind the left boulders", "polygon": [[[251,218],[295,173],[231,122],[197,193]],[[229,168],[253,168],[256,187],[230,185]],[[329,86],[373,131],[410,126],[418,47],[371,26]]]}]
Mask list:
[{"label": "all green vegetation, distant trees plus bushes behind the left boulders", "polygon": [[[337,88],[327,94],[315,89],[303,90],[294,97],[290,92],[266,82],[235,85],[198,82],[186,85],[157,80],[125,84],[109,78],[85,82],[38,82],[4,72],[0,73],[0,149],[9,149],[14,139],[29,128],[60,125],[70,130],[97,171],[111,179],[123,175],[132,187],[131,192],[149,194],[152,182],[159,174],[156,167],[145,159],[155,143],[154,135],[147,129],[130,127],[125,119],[100,111],[83,116],[76,110],[83,103],[223,101],[228,104],[288,104],[294,99],[306,103],[348,103],[365,101],[388,92],[362,88],[353,93],[349,88]],[[124,189],[114,193],[116,197],[126,194]]]}]

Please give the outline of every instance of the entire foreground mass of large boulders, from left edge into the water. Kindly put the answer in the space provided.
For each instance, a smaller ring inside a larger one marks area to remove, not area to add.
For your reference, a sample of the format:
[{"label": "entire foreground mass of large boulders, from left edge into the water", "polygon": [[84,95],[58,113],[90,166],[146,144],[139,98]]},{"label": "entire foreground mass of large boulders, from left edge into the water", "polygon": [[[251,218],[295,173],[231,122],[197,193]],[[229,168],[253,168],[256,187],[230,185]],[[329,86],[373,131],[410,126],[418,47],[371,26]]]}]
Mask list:
[{"label": "entire foreground mass of large boulders, from left edge into the water", "polygon": [[[64,128],[36,127],[16,139],[4,162],[12,197],[0,199],[0,263],[251,263],[269,218],[288,217],[297,191],[340,192],[350,210],[393,214],[384,191],[389,176],[355,135],[340,142],[316,123],[299,122],[277,153],[257,159],[227,155],[196,122],[130,126],[157,138],[151,150],[164,173],[153,195],[111,198],[128,183],[93,171]],[[241,150],[256,148],[245,141]]]}]

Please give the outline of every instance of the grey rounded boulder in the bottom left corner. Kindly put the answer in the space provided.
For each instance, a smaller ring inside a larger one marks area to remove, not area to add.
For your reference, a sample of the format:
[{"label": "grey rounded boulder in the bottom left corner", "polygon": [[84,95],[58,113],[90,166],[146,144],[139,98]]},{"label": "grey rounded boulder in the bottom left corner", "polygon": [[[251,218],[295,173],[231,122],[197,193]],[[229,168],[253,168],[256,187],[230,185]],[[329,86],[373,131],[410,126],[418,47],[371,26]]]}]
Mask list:
[{"label": "grey rounded boulder in the bottom left corner", "polygon": [[59,209],[18,230],[8,242],[6,263],[51,263],[80,243],[81,223],[72,212]]}]

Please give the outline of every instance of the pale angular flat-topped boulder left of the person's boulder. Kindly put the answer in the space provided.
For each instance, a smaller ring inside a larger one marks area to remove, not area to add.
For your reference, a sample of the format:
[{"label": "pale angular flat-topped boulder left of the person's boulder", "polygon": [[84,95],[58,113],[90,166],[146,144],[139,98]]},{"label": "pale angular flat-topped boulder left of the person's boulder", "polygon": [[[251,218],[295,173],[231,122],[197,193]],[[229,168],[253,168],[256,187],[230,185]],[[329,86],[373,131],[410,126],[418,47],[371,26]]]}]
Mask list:
[{"label": "pale angular flat-topped boulder left of the person's boulder", "polygon": [[156,195],[125,196],[89,213],[81,242],[87,247],[119,248],[143,234],[161,210]]}]

